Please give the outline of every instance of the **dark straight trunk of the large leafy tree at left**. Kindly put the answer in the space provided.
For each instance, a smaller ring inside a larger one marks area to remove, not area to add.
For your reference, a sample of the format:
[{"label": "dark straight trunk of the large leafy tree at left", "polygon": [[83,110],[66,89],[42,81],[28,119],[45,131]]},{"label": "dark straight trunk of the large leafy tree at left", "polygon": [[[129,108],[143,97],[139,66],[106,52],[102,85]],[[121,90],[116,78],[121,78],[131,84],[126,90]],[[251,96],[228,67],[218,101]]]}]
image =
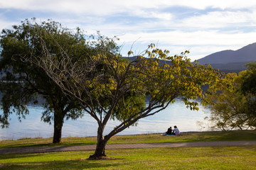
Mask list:
[{"label": "dark straight trunk of the large leafy tree at left", "polygon": [[54,132],[53,132],[53,143],[61,142],[61,132],[63,128],[63,111],[54,111]]}]

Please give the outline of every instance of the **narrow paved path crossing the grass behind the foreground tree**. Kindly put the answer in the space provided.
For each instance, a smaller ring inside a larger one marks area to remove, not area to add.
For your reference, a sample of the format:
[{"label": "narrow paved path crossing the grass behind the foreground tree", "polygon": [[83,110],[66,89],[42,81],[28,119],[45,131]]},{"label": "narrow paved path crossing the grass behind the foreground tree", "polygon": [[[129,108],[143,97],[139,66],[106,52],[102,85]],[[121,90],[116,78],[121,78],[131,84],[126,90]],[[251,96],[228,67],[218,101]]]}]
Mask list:
[{"label": "narrow paved path crossing the grass behind the foreground tree", "polygon": [[[106,149],[133,149],[152,147],[211,147],[211,146],[244,146],[256,145],[256,141],[228,142],[171,142],[171,143],[142,143],[142,144],[113,144]],[[0,154],[33,153],[33,152],[65,152],[80,150],[95,150],[96,145],[60,146],[60,147],[16,147],[0,149]]]}]

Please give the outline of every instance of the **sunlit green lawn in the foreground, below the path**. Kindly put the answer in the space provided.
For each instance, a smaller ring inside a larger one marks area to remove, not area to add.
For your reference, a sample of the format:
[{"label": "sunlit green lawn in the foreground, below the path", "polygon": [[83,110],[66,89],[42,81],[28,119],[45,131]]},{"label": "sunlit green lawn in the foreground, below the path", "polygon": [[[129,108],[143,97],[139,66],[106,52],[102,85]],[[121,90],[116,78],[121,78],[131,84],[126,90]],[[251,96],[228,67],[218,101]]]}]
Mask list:
[{"label": "sunlit green lawn in the foreground, below the path", "polygon": [[92,151],[0,154],[0,169],[255,169],[256,146],[107,150],[112,160],[86,160]]}]

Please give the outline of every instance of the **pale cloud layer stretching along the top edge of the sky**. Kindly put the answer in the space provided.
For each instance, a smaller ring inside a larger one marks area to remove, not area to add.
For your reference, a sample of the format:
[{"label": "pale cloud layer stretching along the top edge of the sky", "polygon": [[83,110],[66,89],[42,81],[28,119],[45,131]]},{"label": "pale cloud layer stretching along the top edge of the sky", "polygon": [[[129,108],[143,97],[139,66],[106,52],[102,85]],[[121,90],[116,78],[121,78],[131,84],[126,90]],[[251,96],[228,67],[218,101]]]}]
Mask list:
[{"label": "pale cloud layer stretching along the top edge of the sky", "polygon": [[[150,10],[161,9],[173,6],[186,6],[189,8],[205,9],[205,8],[255,8],[256,1],[250,0],[8,0],[0,1],[0,8],[18,8],[29,11],[52,11],[65,13],[84,13],[91,15],[112,15],[114,13],[132,13],[138,9]],[[135,14],[135,13],[134,13]]]}]

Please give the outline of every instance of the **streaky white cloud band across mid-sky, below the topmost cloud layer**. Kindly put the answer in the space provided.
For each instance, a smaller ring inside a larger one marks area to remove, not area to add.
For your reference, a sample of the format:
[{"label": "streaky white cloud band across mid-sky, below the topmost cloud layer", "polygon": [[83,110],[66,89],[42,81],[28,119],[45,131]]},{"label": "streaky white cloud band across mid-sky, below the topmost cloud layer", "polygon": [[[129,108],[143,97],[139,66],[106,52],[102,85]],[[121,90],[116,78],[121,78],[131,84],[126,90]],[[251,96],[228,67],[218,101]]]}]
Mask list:
[{"label": "streaky white cloud band across mid-sky, below the topmost cloud layer", "polygon": [[[178,18],[171,13],[156,13],[137,11],[139,16],[149,17],[149,19],[139,21],[129,21],[129,18],[117,22],[104,22],[102,17],[85,17],[69,19],[69,22],[84,23],[86,29],[101,30],[107,35],[119,35],[134,32],[161,32],[163,30],[180,30],[183,32],[191,32],[195,30],[222,30],[237,32],[245,27],[254,27],[256,25],[256,12],[250,11],[212,11],[203,15],[195,15],[189,18]],[[150,19],[159,18],[159,19]],[[115,18],[113,18],[114,20]],[[132,18],[130,20],[136,20]],[[67,21],[67,19],[62,21]],[[132,22],[132,23],[129,23]],[[65,23],[65,22],[64,22]],[[83,23],[81,23],[83,24]],[[78,26],[78,25],[77,25]],[[82,25],[81,25],[82,26]],[[248,31],[248,30],[246,30]]]}]

